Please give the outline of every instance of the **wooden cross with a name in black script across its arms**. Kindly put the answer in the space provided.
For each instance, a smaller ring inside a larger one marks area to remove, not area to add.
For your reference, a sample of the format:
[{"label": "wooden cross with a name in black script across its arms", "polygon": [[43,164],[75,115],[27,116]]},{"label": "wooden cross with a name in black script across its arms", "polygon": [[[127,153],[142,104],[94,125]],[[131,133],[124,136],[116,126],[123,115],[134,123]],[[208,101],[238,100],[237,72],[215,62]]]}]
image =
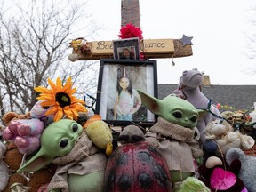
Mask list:
[{"label": "wooden cross with a name in black script across its arms", "polygon": [[[121,26],[127,23],[140,28],[140,6],[139,0],[121,1]],[[193,54],[191,44],[186,44],[188,37],[182,39],[144,39],[140,43],[141,52],[145,59],[178,58],[191,56]],[[86,42],[83,38],[72,40],[70,47],[73,48],[69,60],[100,60],[113,59],[112,41]]]}]

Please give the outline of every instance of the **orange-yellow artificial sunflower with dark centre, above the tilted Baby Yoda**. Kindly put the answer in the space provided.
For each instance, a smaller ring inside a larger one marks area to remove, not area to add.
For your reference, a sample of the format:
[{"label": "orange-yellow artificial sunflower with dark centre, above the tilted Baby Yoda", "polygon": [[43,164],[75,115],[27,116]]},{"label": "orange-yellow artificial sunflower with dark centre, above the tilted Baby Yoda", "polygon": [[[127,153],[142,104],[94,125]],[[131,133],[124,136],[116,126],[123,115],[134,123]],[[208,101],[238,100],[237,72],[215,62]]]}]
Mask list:
[{"label": "orange-yellow artificial sunflower with dark centre, above the tilted Baby Yoda", "polygon": [[60,77],[57,78],[56,84],[48,78],[48,84],[52,89],[47,89],[43,86],[35,87],[36,92],[40,92],[37,100],[44,100],[41,105],[44,107],[52,107],[45,113],[45,116],[54,115],[54,121],[60,120],[64,115],[68,119],[77,119],[78,112],[87,112],[84,107],[84,100],[79,100],[73,94],[76,88],[72,89],[73,83],[71,77],[68,78],[66,84],[62,86]]}]

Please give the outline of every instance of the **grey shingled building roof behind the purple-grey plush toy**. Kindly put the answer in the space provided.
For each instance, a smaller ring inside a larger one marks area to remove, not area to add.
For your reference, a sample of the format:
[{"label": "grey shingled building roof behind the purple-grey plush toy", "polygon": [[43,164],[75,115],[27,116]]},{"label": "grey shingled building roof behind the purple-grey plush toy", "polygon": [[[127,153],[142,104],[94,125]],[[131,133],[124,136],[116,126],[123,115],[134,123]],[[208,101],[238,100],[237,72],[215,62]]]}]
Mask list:
[{"label": "grey shingled building roof behind the purple-grey plush toy", "polygon": [[[158,98],[163,99],[177,87],[178,84],[158,84]],[[252,109],[256,102],[256,85],[202,85],[201,91],[213,104],[236,109]]]}]

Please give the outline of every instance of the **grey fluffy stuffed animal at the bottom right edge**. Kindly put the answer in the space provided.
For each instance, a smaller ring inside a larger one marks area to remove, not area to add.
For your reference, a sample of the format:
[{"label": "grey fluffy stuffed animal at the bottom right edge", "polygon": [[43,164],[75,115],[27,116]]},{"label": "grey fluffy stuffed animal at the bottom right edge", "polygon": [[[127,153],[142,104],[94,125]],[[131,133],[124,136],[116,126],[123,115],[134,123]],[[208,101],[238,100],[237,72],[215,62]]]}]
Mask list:
[{"label": "grey fluffy stuffed animal at the bottom right edge", "polygon": [[238,172],[238,177],[243,180],[248,192],[256,191],[256,157],[246,156],[240,148],[230,148],[226,154],[228,164],[240,162],[241,169]]}]

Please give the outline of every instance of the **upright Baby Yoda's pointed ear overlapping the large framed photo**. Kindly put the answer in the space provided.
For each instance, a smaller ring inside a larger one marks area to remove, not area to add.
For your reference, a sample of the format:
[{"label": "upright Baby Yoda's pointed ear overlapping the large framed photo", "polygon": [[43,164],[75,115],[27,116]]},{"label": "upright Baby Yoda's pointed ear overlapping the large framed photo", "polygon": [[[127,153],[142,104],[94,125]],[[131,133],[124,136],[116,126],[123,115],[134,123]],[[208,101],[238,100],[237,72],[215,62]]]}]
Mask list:
[{"label": "upright Baby Yoda's pointed ear overlapping the large framed photo", "polygon": [[138,90],[142,104],[153,114],[160,115],[160,100]]}]

